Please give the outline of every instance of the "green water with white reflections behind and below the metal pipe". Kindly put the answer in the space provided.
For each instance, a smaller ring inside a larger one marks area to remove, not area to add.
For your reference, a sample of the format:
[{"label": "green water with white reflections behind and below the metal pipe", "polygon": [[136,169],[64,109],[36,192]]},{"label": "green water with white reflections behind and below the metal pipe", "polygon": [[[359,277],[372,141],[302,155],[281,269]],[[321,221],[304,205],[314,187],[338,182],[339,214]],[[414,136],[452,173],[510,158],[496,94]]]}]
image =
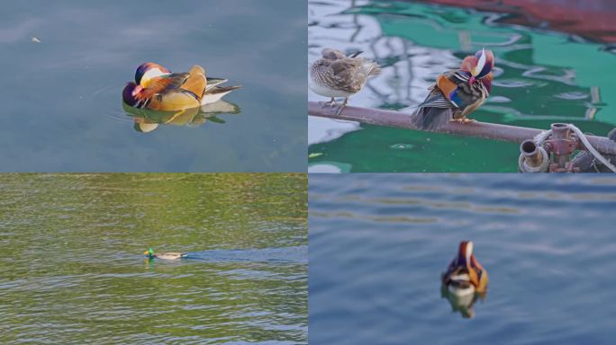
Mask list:
[{"label": "green water with white reflections behind and below the metal pipe", "polygon": [[[363,56],[383,66],[383,73],[370,79],[350,104],[410,114],[437,75],[458,68],[478,49],[491,49],[492,93],[470,118],[542,129],[568,122],[599,136],[616,127],[616,88],[607,73],[616,66],[616,50],[613,35],[606,34],[616,18],[613,4],[597,0],[592,3],[602,4],[594,7],[554,6],[560,12],[551,18],[561,19],[548,22],[525,13],[528,9],[515,2],[438,2],[468,7],[416,1],[310,1],[308,59],[320,57],[325,47],[364,51]],[[475,10],[471,4],[486,8]],[[530,7],[540,12],[539,5]],[[585,16],[581,24],[573,19],[579,13]],[[512,23],[525,20],[532,25]],[[579,26],[591,34],[558,31]],[[312,92],[308,98],[323,101]],[[311,172],[515,172],[520,155],[515,143],[315,117],[309,119],[309,143]]]}]

